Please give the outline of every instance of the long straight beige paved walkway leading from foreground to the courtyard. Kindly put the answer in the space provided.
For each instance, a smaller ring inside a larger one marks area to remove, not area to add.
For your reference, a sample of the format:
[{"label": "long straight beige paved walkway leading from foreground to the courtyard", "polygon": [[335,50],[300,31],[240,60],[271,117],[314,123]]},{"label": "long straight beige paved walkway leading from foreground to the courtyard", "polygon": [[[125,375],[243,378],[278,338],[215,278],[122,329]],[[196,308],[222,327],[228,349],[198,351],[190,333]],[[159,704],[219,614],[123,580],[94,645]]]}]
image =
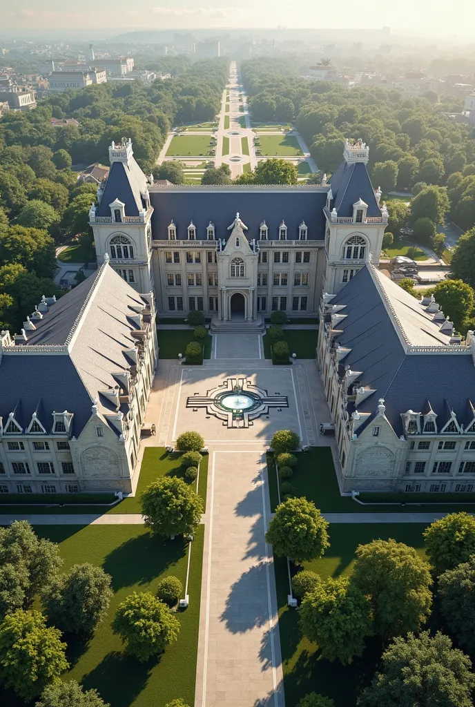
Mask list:
[{"label": "long straight beige paved walkway leading from foreground to the courtyard", "polygon": [[213,452],[195,707],[283,707],[262,452]]}]

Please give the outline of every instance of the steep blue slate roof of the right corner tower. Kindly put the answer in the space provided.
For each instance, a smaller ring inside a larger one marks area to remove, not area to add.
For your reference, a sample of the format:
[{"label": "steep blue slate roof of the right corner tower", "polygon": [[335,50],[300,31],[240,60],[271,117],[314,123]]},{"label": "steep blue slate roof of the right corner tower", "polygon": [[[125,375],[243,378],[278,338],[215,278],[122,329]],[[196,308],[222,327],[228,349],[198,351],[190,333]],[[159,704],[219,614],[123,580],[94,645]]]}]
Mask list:
[{"label": "steep blue slate roof of the right corner tower", "polygon": [[330,208],[335,207],[339,216],[353,216],[353,204],[358,199],[363,199],[365,204],[368,204],[367,216],[381,216],[370,175],[363,162],[348,165],[346,160],[343,160],[329,182],[333,196]]}]

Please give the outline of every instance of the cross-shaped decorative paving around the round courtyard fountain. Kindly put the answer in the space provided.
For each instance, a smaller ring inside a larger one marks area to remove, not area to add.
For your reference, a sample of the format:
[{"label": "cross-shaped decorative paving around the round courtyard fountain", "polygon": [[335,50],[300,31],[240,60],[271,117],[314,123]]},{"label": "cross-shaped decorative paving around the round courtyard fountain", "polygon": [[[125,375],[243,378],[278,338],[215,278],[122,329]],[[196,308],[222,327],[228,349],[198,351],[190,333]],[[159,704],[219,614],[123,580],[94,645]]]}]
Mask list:
[{"label": "cross-shaped decorative paving around the round courtyard fountain", "polygon": [[281,411],[283,407],[288,407],[286,395],[269,395],[247,378],[226,378],[221,385],[207,390],[206,395],[197,392],[187,397],[187,408],[195,412],[204,408],[207,415],[222,420],[228,428],[247,428],[253,420],[268,415],[270,408]]}]

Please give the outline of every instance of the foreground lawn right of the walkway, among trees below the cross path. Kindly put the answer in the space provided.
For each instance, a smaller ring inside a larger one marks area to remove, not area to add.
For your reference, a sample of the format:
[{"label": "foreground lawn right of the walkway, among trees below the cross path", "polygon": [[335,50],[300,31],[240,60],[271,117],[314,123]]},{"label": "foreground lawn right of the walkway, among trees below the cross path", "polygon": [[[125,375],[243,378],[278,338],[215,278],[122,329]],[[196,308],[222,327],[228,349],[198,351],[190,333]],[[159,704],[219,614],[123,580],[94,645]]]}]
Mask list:
[{"label": "foreground lawn right of the walkway, among trees below the cross path", "polygon": [[[373,539],[394,538],[412,545],[421,556],[423,530],[418,523],[363,523],[358,525],[330,525],[331,547],[322,559],[305,563],[305,568],[317,572],[323,579],[351,572],[356,547]],[[281,638],[283,686],[286,706],[295,707],[307,693],[315,691],[334,699],[335,707],[355,707],[356,698],[370,682],[376,670],[381,647],[377,641],[368,641],[362,658],[351,665],[329,662],[319,655],[318,646],[303,638],[298,625],[298,611],[287,606],[288,573],[285,559],[274,559],[278,603],[278,628]]]}]

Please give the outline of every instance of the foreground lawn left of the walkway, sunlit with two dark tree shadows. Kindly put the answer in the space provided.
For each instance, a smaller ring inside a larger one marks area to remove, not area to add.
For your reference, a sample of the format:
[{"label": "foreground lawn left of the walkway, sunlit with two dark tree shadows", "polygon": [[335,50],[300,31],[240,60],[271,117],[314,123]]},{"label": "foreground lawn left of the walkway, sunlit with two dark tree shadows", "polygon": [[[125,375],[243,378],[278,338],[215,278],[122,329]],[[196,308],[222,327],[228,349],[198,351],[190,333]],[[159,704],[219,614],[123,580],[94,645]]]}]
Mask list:
[{"label": "foreground lawn left of the walkway, sunlit with two dark tree shadows", "polygon": [[[110,629],[117,604],[134,591],[156,592],[158,581],[175,575],[185,584],[188,544],[153,537],[140,525],[35,527],[40,537],[60,543],[63,569],[90,562],[112,575],[114,597],[107,619],[90,639],[66,636],[72,677],[96,688],[113,707],[164,707],[181,697],[194,704],[204,526],[195,534],[189,573],[189,607],[180,612],[180,636],[158,660],[141,663],[124,653]],[[11,692],[0,691],[2,707],[24,707]],[[33,704],[33,703],[32,703]]]}]

